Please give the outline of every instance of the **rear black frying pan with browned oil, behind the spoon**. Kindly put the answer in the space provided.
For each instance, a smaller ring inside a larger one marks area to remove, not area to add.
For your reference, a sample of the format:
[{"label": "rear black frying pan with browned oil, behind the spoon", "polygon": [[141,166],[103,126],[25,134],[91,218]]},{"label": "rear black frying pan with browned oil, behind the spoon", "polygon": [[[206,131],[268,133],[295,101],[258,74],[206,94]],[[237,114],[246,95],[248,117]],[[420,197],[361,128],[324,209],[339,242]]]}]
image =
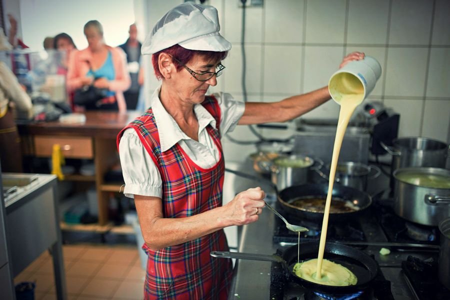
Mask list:
[{"label": "rear black frying pan with browned oil, behind the spoon", "polygon": [[[273,184],[270,180],[260,178],[258,176],[254,176],[251,174],[247,174],[241,171],[231,170],[225,168],[225,171],[236,174],[238,176],[256,180],[259,182],[263,182],[266,184],[270,184],[270,186],[275,190],[278,202],[281,207],[288,213],[305,218],[311,221],[321,222],[323,219],[323,212],[317,212],[314,210],[310,210],[306,207],[302,207],[301,205],[293,205],[292,202],[296,201],[298,197],[323,197],[326,198],[326,194],[328,193],[328,184],[326,183],[314,183],[314,184],[302,184],[302,185],[293,185],[286,187],[278,192],[276,185]],[[338,222],[345,221],[348,217],[355,216],[360,214],[364,209],[369,207],[372,203],[372,198],[366,192],[358,190],[353,187],[340,185],[334,183],[331,199],[340,198],[343,200],[350,201],[354,206],[357,206],[357,210],[353,211],[342,211],[342,212],[330,212],[329,213],[329,221]]]}]

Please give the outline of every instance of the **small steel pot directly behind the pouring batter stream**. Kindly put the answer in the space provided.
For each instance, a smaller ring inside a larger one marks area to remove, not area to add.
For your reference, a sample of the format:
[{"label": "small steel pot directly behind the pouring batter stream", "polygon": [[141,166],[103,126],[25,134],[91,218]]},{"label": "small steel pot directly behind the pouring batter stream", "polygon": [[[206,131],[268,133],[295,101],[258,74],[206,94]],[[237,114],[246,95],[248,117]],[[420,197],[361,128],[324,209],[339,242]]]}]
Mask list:
[{"label": "small steel pot directly behind the pouring batter stream", "polygon": [[[329,165],[326,166],[325,171],[327,173],[324,173],[321,170],[316,170],[320,177],[328,180]],[[365,191],[367,189],[367,179],[374,179],[378,177],[380,173],[380,169],[375,165],[365,165],[359,162],[344,161],[337,163],[334,181],[345,186]]]}]

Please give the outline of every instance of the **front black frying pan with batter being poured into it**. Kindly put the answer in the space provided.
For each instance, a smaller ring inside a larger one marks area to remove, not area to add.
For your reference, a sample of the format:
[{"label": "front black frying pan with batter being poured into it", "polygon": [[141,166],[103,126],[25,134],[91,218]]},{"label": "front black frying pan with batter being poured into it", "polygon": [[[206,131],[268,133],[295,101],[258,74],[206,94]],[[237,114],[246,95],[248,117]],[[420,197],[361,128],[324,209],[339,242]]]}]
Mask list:
[{"label": "front black frying pan with batter being poured into it", "polygon": [[[300,262],[312,258],[317,258],[318,248],[318,241],[300,243]],[[223,258],[280,262],[289,281],[296,282],[303,287],[311,289],[313,291],[333,295],[344,295],[363,290],[372,282],[378,272],[378,264],[376,263],[376,261],[361,250],[344,244],[327,242],[325,243],[325,252],[323,257],[348,268],[353,272],[353,274],[355,274],[357,282],[355,285],[348,286],[318,284],[302,279],[295,275],[295,273],[292,271],[293,266],[297,262],[297,250],[297,245],[293,245],[288,247],[283,252],[282,256],[228,251],[211,251],[210,255],[213,257]]]}]

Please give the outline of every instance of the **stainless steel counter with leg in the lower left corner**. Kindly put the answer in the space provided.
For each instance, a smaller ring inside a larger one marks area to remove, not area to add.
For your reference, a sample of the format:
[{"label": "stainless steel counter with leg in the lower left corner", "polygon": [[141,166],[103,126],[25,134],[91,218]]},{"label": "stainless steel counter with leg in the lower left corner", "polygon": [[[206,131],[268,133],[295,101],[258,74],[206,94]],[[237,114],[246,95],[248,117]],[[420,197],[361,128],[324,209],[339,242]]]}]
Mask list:
[{"label": "stainless steel counter with leg in the lower left corner", "polygon": [[59,300],[66,299],[56,176],[3,173],[2,179],[3,186],[16,185],[16,193],[5,199],[6,246],[10,250],[12,276],[16,276],[49,249],[53,260],[56,297]]}]

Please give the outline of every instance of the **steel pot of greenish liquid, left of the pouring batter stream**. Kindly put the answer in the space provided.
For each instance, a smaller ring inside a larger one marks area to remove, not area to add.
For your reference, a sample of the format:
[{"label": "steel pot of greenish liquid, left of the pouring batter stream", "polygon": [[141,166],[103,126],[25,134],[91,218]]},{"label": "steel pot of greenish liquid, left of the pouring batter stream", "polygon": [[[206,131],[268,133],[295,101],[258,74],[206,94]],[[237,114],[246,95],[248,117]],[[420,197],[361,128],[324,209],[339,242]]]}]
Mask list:
[{"label": "steel pot of greenish liquid, left of the pouring batter stream", "polygon": [[301,154],[280,155],[273,159],[271,165],[271,180],[278,190],[305,184],[308,181],[309,170],[319,169],[323,161],[318,158]]}]

